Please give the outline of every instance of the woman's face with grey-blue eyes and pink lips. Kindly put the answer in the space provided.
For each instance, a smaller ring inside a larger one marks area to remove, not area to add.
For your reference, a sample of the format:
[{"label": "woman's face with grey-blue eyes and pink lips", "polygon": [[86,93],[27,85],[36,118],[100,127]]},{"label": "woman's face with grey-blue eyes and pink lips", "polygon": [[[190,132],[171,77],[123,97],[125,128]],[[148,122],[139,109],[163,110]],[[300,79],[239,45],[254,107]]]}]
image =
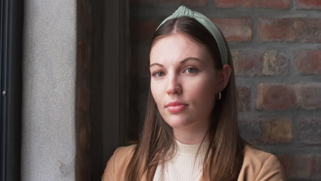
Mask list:
[{"label": "woman's face with grey-blue eyes and pink lips", "polygon": [[204,45],[180,33],[156,40],[150,73],[152,95],[171,128],[208,126],[219,89],[213,58]]}]

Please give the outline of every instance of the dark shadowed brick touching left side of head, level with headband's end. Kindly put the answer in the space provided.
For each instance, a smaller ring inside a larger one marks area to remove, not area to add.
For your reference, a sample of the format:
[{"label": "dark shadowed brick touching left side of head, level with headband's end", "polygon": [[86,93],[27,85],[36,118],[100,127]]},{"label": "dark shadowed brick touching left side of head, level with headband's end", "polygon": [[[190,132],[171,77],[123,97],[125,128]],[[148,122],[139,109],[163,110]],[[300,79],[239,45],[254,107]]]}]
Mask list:
[{"label": "dark shadowed brick touching left side of head, level with headband's end", "polygon": [[131,23],[131,38],[134,43],[150,40],[158,25],[155,21],[136,21]]}]

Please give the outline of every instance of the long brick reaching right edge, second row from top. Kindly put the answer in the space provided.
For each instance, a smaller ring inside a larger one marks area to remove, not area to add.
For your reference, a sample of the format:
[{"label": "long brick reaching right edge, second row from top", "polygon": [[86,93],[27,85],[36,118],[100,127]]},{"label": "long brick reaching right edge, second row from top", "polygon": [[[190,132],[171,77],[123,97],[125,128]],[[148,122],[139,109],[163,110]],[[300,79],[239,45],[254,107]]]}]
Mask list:
[{"label": "long brick reaching right edge, second row from top", "polygon": [[263,41],[321,42],[321,19],[259,19],[258,36]]}]

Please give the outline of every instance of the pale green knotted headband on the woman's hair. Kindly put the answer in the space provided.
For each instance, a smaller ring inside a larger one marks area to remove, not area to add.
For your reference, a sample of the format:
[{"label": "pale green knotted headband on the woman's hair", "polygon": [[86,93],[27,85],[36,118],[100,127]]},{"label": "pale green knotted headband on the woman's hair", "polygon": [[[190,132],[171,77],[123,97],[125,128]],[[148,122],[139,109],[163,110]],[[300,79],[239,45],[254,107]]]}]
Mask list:
[{"label": "pale green knotted headband on the woman's hair", "polygon": [[168,16],[167,19],[160,23],[157,29],[166,21],[169,21],[170,19],[176,19],[181,16],[188,16],[190,18],[195,19],[196,21],[201,23],[207,30],[209,30],[209,32],[211,32],[212,36],[216,40],[217,46],[219,47],[219,53],[221,54],[222,64],[228,64],[228,50],[223,34],[221,33],[221,31],[219,31],[219,28],[217,27],[217,25],[213,23],[213,21],[208,19],[203,14],[200,14],[200,12],[192,11],[184,5],[181,5],[180,8],[178,8],[174,12],[174,14],[171,14],[171,16]]}]

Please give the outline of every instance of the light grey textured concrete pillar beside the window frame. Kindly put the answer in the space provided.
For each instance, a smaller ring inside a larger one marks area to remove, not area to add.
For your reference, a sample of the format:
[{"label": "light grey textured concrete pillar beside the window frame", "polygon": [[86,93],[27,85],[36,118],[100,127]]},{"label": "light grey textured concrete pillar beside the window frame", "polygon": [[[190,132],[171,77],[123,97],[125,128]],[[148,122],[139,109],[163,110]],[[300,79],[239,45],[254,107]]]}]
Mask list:
[{"label": "light grey textured concrete pillar beside the window frame", "polygon": [[27,0],[21,180],[75,180],[75,0]]}]

